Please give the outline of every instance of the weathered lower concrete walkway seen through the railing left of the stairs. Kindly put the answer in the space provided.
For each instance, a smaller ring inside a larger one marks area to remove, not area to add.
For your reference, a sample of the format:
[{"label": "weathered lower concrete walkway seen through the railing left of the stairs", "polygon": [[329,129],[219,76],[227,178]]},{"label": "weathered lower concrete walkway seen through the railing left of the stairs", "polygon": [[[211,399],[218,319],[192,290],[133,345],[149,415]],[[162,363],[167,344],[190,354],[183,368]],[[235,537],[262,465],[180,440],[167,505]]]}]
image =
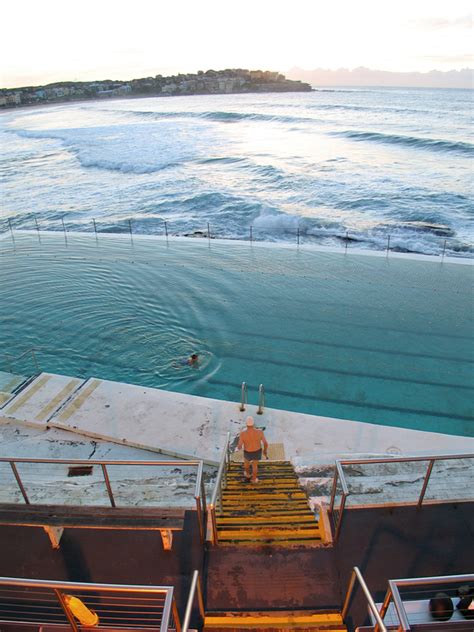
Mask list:
[{"label": "weathered lower concrete walkway seen through the railing left of the stairs", "polygon": [[[21,459],[84,459],[107,461],[167,461],[168,465],[108,466],[114,498],[120,507],[177,506],[193,508],[196,467],[178,466],[176,459],[156,452],[90,439],[57,428],[26,426],[16,421],[0,423],[0,457]],[[69,475],[71,463],[17,463],[31,503],[108,506],[110,501],[100,466],[84,476]],[[216,469],[204,468],[210,497]],[[7,462],[0,461],[0,503],[23,503],[18,484]]]}]

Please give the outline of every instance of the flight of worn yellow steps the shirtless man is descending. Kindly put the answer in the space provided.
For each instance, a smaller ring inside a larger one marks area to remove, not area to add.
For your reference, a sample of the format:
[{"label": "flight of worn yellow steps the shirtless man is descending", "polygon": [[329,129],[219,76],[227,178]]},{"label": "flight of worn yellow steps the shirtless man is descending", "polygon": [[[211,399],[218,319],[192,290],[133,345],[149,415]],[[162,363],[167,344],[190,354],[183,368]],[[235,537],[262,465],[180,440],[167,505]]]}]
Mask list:
[{"label": "flight of worn yellow steps the shirtless man is descending", "polygon": [[217,515],[219,546],[321,546],[322,521],[310,510],[306,493],[289,461],[259,463],[258,483],[242,464],[231,463]]}]

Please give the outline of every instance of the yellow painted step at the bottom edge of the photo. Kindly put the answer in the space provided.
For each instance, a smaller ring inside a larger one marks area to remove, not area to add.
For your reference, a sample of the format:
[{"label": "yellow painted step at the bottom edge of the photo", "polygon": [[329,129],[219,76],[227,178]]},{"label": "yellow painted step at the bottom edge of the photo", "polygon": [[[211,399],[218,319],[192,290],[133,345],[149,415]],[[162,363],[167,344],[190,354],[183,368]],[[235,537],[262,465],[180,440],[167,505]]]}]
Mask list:
[{"label": "yellow painted step at the bottom edge of the photo", "polygon": [[[341,615],[337,612],[305,613],[304,611],[250,613],[228,612],[225,614],[207,613],[204,619],[204,629],[208,628],[294,628],[313,627],[329,630],[345,630]],[[331,626],[331,627],[329,627]],[[332,626],[336,626],[335,628]],[[339,627],[337,627],[339,626]]]}]

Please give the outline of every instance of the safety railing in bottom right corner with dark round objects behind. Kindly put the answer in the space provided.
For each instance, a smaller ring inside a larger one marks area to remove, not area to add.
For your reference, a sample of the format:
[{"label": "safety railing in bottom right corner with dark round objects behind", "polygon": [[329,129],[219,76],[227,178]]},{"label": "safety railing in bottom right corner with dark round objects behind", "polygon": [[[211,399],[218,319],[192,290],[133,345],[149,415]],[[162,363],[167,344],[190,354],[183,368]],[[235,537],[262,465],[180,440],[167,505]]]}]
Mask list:
[{"label": "safety railing in bottom right corner with dark round objects behind", "polygon": [[[456,625],[459,624],[461,627],[465,619],[459,609],[455,608],[452,598],[460,597],[459,588],[463,585],[472,585],[473,581],[473,574],[392,579],[388,582],[380,617],[387,625],[397,626],[398,632],[410,632],[416,624],[424,625],[433,621],[440,624],[440,630],[454,631]],[[437,595],[438,600],[440,599],[440,592],[444,597],[439,604],[441,612],[437,620],[435,612],[430,611],[429,604]],[[459,605],[459,602],[456,605]],[[442,627],[441,623],[446,621],[449,621],[449,624],[446,623]]]}]

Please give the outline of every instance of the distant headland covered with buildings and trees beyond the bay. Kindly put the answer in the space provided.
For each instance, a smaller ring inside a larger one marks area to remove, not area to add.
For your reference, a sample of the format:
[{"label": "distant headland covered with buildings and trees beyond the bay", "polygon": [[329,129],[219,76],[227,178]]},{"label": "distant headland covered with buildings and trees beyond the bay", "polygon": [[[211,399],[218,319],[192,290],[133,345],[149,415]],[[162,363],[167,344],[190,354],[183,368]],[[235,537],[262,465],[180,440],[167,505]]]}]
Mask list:
[{"label": "distant headland covered with buildings and trees beyond the bay", "polygon": [[130,81],[61,81],[46,86],[0,89],[0,108],[109,99],[112,97],[167,97],[193,94],[239,94],[249,92],[310,92],[308,83],[287,79],[269,70],[207,70],[170,77],[156,75]]}]

